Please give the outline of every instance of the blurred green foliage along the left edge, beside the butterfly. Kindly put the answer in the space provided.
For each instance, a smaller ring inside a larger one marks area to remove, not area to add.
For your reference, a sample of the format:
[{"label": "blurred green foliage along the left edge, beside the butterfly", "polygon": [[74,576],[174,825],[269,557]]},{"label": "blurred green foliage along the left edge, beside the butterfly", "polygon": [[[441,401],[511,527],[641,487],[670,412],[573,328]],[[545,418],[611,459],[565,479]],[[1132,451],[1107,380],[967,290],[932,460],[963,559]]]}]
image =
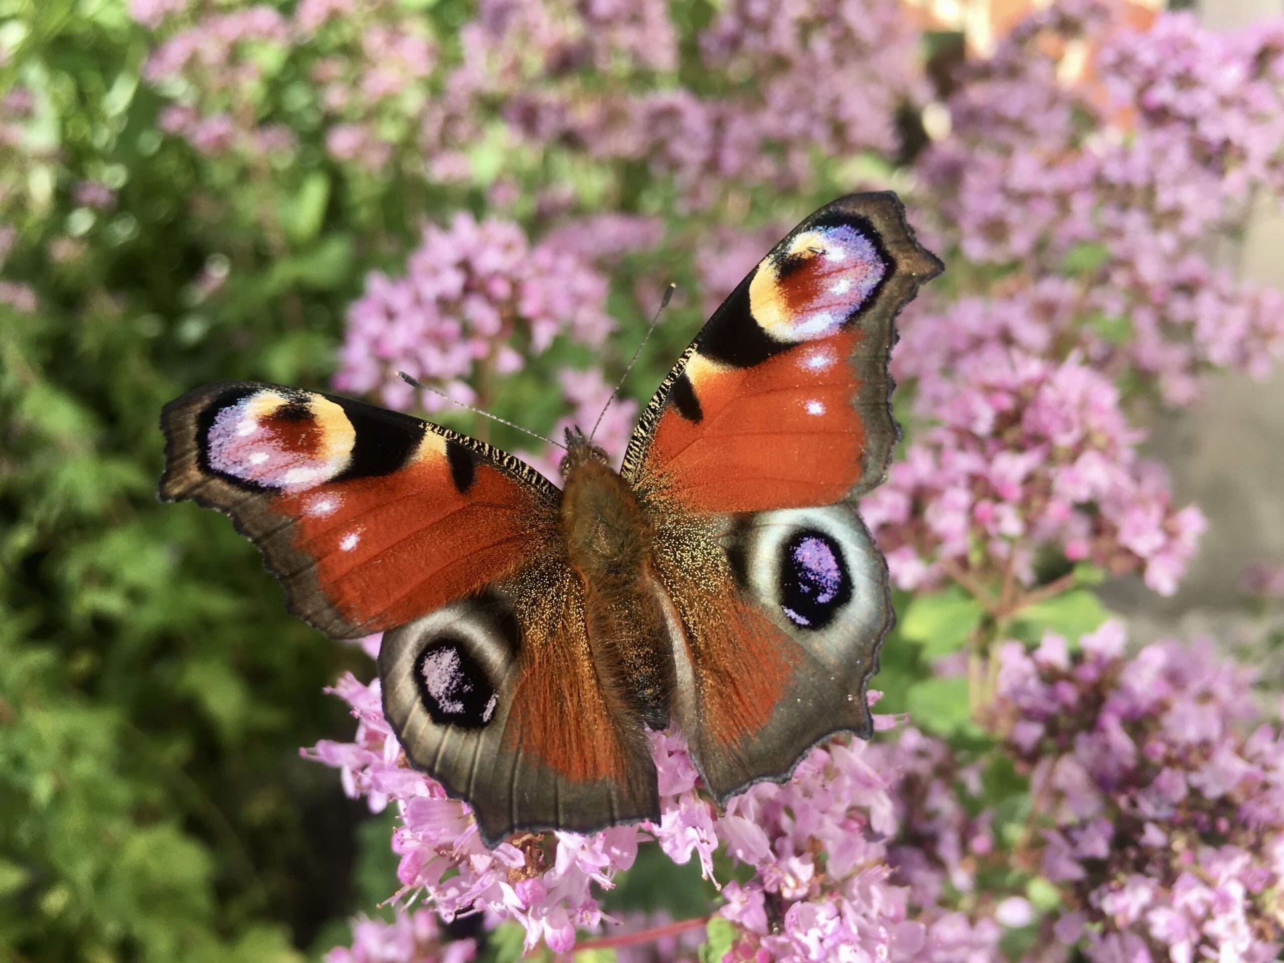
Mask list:
[{"label": "blurred green foliage along the left edge, beside the butterfly", "polygon": [[[157,416],[203,381],[320,384],[353,241],[324,171],[282,185],[279,256],[236,212],[191,217],[199,175],[148,136],[122,4],[14,13],[30,32],[0,92],[21,73],[28,136],[56,153],[4,211],[5,275],[41,311],[0,306],[0,958],[302,960],[369,905],[344,882],[361,810],[298,756],[349,731],[321,690],[365,660],[285,614],[226,519],[155,501]],[[114,178],[114,213],[73,208],[85,177]],[[59,236],[74,259],[37,253]],[[239,282],[200,303],[220,265]]]}]

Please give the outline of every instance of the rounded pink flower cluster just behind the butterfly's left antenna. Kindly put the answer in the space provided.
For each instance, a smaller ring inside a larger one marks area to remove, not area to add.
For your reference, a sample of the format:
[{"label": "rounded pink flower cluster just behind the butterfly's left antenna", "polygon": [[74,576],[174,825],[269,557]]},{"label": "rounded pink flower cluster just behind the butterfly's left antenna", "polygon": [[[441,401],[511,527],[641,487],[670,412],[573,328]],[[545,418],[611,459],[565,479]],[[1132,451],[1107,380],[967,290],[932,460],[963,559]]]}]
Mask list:
[{"label": "rounded pink flower cluster just behind the butterfly's left antenna", "polygon": [[[578,256],[532,247],[515,223],[457,214],[449,227],[424,229],[404,276],[367,276],[348,308],[335,386],[377,389],[406,410],[416,399],[397,377],[404,371],[473,403],[479,367],[487,377],[517,371],[564,331],[600,344],[614,326],[605,302],[606,279]],[[428,411],[444,403],[431,393],[419,402]]]}]

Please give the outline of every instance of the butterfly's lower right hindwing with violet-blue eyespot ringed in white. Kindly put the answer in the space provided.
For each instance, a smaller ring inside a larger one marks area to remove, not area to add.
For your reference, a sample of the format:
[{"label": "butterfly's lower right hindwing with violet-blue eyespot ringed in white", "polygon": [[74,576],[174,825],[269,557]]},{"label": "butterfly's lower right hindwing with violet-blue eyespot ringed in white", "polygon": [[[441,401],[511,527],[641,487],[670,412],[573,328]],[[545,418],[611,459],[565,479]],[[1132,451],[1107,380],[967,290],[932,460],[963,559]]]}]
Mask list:
[{"label": "butterfly's lower right hindwing with violet-blue eyespot ringed in white", "polygon": [[[709,561],[682,564],[693,556]],[[687,656],[673,715],[720,804],[836,732],[869,737],[865,684],[892,610],[851,505],[669,516],[655,559]]]}]

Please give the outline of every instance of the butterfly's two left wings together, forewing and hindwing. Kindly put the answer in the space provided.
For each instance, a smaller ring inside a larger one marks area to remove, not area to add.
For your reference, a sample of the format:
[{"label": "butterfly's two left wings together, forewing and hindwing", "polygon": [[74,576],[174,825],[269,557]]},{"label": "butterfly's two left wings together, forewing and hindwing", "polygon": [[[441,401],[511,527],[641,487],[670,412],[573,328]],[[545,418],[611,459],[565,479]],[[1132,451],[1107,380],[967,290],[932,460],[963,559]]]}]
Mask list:
[{"label": "butterfly's two left wings together, forewing and hindwing", "polygon": [[386,630],[384,713],[483,840],[659,819],[637,714],[588,645],[560,492],[475,439],[347,398],[218,384],[166,406],[164,501],[231,515],[290,610]]}]

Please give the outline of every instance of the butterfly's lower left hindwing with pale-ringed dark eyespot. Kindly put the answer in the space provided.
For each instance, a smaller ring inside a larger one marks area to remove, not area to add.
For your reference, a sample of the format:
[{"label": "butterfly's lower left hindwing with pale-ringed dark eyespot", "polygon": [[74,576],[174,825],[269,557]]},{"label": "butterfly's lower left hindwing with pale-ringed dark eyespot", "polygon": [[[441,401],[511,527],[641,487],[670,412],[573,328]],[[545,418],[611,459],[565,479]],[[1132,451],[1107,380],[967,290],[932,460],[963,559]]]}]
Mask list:
[{"label": "butterfly's lower left hindwing with pale-ringed dark eyespot", "polygon": [[556,552],[384,636],[384,714],[407,758],[466,799],[487,845],[516,831],[659,819],[645,729],[588,645]]}]

